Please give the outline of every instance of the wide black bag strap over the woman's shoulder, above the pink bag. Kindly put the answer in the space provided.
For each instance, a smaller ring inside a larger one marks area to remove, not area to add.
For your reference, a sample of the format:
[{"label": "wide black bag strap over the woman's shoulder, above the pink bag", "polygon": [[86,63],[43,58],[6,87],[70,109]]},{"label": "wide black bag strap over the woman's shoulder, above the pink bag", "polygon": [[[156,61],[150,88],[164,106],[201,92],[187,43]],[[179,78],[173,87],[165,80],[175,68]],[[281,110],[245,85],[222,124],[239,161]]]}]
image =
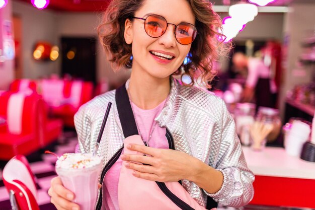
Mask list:
[{"label": "wide black bag strap over the woman's shoulder, above the pink bag", "polygon": [[126,90],[126,84],[123,84],[121,87],[116,89],[115,100],[125,138],[130,135],[138,135],[137,124],[133,116],[131,104]]}]

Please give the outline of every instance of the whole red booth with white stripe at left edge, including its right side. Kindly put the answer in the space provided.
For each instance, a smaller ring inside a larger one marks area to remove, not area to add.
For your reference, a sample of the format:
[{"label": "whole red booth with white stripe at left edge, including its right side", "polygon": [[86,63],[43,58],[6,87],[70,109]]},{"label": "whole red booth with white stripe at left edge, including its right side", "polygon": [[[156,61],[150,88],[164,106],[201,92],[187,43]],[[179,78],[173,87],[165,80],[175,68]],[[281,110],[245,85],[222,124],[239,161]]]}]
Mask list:
[{"label": "whole red booth with white stripe at left edge, including its right side", "polygon": [[6,120],[0,126],[1,160],[35,152],[61,134],[61,120],[48,119],[46,110],[36,93],[7,92],[0,96],[0,115]]}]

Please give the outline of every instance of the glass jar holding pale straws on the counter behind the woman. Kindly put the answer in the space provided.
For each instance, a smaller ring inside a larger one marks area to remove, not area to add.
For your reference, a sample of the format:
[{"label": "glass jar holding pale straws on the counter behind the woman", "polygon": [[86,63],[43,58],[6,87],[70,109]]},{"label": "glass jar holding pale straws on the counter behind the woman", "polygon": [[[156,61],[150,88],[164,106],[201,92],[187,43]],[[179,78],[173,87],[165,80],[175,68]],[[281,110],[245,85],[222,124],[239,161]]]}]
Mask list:
[{"label": "glass jar holding pale straws on the counter behind the woman", "polygon": [[281,131],[279,110],[269,107],[259,107],[255,122],[251,127],[252,147],[261,150],[267,142],[277,139]]}]

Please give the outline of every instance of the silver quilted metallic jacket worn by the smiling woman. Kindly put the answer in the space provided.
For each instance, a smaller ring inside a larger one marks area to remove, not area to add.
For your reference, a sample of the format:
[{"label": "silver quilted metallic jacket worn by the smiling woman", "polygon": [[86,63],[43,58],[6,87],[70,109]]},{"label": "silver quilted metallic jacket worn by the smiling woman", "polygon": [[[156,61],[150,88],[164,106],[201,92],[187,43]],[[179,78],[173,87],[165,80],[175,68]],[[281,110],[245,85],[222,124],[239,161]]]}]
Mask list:
[{"label": "silver quilted metallic jacket worn by the smiling woman", "polygon": [[[124,135],[115,103],[115,90],[97,96],[74,116],[80,150],[92,152],[109,101],[113,106],[98,150],[98,155],[103,157],[103,166],[123,146]],[[245,205],[253,198],[255,177],[247,167],[234,120],[220,98],[174,80],[170,97],[155,120],[160,126],[169,128],[176,150],[222,172],[223,185],[214,194],[207,193],[191,181],[182,180],[183,187],[200,205],[206,205],[207,195],[222,205],[233,207]]]}]

